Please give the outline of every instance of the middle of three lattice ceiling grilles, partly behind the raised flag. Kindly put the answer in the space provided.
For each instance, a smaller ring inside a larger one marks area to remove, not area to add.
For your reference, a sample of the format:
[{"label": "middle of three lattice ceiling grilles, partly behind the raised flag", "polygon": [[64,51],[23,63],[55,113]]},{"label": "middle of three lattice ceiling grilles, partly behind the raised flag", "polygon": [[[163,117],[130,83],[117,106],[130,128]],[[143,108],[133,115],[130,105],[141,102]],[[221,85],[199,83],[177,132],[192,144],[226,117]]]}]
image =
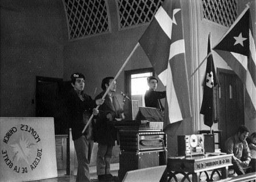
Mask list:
[{"label": "middle of three lattice ceiling grilles, partly behind the raised flag", "polygon": [[163,0],[116,0],[119,30],[148,23]]}]

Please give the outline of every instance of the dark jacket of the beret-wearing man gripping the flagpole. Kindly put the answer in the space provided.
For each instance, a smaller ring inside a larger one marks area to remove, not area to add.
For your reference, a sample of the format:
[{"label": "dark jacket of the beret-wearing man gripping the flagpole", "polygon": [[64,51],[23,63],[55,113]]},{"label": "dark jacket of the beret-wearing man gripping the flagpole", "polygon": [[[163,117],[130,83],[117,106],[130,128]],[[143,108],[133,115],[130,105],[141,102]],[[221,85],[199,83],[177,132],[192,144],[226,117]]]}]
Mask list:
[{"label": "dark jacket of the beret-wearing man gripping the flagpole", "polygon": [[[90,118],[93,108],[96,107],[95,100],[84,92],[82,92],[84,100],[82,101],[77,92],[72,89],[67,94],[66,97],[66,107],[67,107],[67,118],[69,120],[69,127],[72,129],[73,140],[78,139],[82,135],[91,137],[91,124],[88,127],[84,134],[82,134],[83,128],[86,125],[86,116]],[[89,119],[88,118],[88,119]]]}]

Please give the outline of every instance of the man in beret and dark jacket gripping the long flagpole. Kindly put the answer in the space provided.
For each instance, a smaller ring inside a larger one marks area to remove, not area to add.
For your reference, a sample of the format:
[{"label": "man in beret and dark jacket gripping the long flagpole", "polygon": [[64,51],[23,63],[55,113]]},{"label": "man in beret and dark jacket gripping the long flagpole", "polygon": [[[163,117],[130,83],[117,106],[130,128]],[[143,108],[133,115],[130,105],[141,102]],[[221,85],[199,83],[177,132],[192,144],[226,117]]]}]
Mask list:
[{"label": "man in beret and dark jacket gripping the long flagpole", "polygon": [[90,115],[98,114],[95,107],[103,103],[103,99],[93,100],[84,92],[85,76],[79,72],[71,75],[72,89],[66,97],[67,119],[72,129],[72,138],[74,140],[75,152],[77,153],[78,169],[77,182],[89,182],[90,172],[89,164],[91,152],[93,149],[93,139],[91,124],[87,130],[82,133]]}]

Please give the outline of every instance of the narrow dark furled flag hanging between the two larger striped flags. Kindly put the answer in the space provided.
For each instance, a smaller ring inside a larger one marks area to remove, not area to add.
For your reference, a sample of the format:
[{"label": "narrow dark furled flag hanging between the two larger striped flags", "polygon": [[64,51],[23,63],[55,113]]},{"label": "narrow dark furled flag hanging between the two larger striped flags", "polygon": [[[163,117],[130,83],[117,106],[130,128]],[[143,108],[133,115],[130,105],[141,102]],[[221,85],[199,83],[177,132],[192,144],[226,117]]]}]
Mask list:
[{"label": "narrow dark furled flag hanging between the two larger striped flags", "polygon": [[[211,51],[210,35],[208,38],[207,54]],[[205,125],[211,127],[216,120],[215,113],[217,111],[214,107],[214,87],[217,86],[217,77],[215,74],[215,67],[213,63],[213,55],[207,58],[205,80],[203,82],[203,102],[201,106],[200,114],[205,115]]]}]

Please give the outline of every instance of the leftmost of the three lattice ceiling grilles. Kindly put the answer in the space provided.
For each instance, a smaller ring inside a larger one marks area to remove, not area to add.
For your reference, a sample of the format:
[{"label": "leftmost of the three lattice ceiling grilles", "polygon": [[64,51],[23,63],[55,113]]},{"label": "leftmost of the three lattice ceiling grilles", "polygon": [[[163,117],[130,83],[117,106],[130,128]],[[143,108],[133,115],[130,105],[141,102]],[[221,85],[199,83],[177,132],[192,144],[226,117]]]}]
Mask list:
[{"label": "leftmost of the three lattice ceiling grilles", "polygon": [[105,0],[63,0],[69,40],[110,31]]}]

